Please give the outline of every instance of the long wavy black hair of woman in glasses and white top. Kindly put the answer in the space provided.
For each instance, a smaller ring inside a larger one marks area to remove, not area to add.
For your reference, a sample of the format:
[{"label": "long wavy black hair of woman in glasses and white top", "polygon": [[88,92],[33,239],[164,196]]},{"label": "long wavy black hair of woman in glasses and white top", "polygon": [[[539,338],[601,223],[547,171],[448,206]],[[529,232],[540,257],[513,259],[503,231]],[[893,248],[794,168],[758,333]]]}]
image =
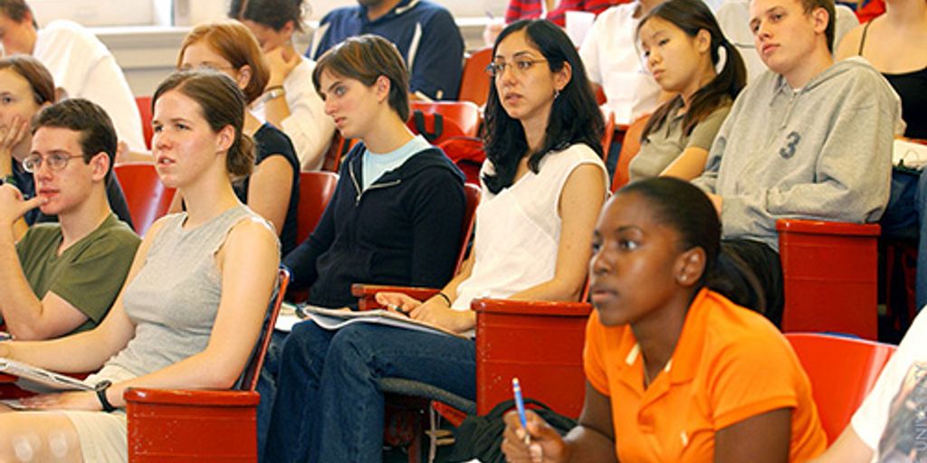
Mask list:
[{"label": "long wavy black hair of woman in glasses and white top", "polygon": [[[595,95],[592,94],[586,69],[579,59],[577,50],[564,31],[543,19],[516,21],[499,34],[496,44],[493,45],[492,55],[496,55],[499,44],[502,44],[506,37],[521,30],[525,30],[527,41],[537,46],[540,54],[547,59],[552,72],[564,69],[564,63],[569,63],[573,71],[570,81],[560,91],[559,96],[553,99],[543,143],[537,151],[528,153],[528,169],[537,173],[540,160],[545,155],[551,151],[565,149],[571,144],[588,144],[602,156],[602,111],[595,103]],[[486,124],[483,128],[486,156],[495,168],[495,173],[484,175],[483,181],[486,182],[489,191],[496,194],[512,185],[518,163],[527,153],[528,146],[521,122],[512,119],[502,108],[494,82],[489,85]]]}]

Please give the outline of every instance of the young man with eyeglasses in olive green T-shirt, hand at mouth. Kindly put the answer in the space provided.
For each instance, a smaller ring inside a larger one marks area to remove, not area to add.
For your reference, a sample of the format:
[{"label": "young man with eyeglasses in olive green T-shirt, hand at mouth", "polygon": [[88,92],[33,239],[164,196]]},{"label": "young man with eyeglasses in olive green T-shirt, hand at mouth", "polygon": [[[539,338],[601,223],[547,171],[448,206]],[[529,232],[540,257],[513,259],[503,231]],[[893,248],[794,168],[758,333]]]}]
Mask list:
[{"label": "young man with eyeglasses in olive green T-shirt, hand at mouth", "polygon": [[[87,100],[44,108],[32,122],[35,196],[0,186],[0,315],[19,339],[47,339],[94,328],[132,265],[138,236],[109,209],[116,132]],[[13,224],[39,207],[58,223],[32,226],[16,242]],[[16,265],[19,264],[19,265]]]}]

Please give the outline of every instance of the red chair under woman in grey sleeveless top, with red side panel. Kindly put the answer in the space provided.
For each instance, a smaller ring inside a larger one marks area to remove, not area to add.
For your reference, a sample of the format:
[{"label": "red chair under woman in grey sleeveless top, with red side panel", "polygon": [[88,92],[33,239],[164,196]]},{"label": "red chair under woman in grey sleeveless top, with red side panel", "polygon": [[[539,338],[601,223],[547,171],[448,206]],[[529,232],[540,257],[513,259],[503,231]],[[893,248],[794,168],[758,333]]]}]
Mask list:
[{"label": "red chair under woman in grey sleeveless top, with red side panel", "polygon": [[264,332],[238,388],[232,391],[132,388],[125,392],[130,462],[258,460],[260,395],[255,388],[288,283],[289,271],[282,268]]}]

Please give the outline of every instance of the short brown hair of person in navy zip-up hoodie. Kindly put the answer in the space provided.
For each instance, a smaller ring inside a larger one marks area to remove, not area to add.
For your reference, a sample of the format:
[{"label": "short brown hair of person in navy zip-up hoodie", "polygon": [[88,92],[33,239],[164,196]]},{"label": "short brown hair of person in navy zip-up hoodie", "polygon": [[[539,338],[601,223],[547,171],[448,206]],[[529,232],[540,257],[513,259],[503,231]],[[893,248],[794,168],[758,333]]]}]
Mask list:
[{"label": "short brown hair of person in navy zip-up hoodie", "polygon": [[326,71],[368,87],[385,76],[389,79],[389,106],[400,119],[409,119],[409,72],[396,45],[387,39],[373,34],[349,37],[325,52],[312,71],[312,83],[320,94]]}]

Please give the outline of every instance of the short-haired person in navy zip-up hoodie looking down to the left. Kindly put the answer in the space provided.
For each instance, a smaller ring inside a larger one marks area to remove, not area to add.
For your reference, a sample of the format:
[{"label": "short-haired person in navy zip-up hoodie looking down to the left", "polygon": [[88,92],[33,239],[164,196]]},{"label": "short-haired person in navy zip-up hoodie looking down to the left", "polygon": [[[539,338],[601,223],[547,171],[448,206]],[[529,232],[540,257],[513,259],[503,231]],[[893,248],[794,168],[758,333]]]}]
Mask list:
[{"label": "short-haired person in navy zip-up hoodie looking down to the left", "polygon": [[355,307],[355,282],[439,287],[451,280],[464,219],[464,175],[406,127],[409,74],[376,35],[349,38],[312,73],[325,112],[359,140],[315,231],[284,258],[309,303]]}]

